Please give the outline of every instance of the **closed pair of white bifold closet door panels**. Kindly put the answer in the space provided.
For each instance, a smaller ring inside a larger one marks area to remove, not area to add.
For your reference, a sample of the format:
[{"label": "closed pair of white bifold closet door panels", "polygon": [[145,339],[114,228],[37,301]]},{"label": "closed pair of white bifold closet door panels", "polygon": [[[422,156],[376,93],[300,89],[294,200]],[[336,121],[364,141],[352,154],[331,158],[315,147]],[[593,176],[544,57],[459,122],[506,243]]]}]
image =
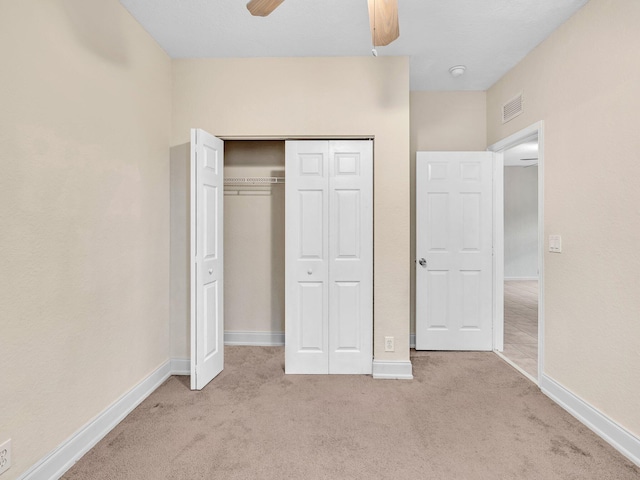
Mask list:
[{"label": "closed pair of white bifold closet door panels", "polygon": [[370,374],[373,143],[286,142],[286,373]]}]

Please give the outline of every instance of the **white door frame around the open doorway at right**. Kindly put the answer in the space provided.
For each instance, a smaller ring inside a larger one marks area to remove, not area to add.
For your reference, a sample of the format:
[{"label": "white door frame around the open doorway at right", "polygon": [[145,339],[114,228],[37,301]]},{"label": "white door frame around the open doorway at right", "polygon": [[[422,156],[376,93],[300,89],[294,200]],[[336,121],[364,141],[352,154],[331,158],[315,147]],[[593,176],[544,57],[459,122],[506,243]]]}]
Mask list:
[{"label": "white door frame around the open doorway at right", "polygon": [[494,245],[494,315],[493,349],[504,349],[504,159],[505,150],[526,139],[538,136],[538,379],[544,372],[544,122],[539,121],[490,145],[496,152],[494,170],[493,245]]}]

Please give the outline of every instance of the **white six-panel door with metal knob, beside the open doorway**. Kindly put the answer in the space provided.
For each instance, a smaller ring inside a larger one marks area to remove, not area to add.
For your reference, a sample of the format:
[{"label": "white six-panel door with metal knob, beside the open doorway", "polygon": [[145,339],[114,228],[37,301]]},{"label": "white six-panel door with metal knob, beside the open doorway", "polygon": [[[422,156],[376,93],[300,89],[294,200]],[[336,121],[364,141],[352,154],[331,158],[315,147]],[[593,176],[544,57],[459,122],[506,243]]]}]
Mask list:
[{"label": "white six-panel door with metal knob, beside the open doorway", "polygon": [[416,349],[491,350],[493,153],[416,155]]}]

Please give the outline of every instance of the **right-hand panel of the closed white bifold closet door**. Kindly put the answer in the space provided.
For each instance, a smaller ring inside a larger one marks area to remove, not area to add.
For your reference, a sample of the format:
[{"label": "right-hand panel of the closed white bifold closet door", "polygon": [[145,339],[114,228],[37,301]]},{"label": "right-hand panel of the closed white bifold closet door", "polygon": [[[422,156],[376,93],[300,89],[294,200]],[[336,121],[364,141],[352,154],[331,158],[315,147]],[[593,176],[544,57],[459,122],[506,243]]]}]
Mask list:
[{"label": "right-hand panel of the closed white bifold closet door", "polygon": [[373,360],[373,142],[329,143],[329,373]]}]

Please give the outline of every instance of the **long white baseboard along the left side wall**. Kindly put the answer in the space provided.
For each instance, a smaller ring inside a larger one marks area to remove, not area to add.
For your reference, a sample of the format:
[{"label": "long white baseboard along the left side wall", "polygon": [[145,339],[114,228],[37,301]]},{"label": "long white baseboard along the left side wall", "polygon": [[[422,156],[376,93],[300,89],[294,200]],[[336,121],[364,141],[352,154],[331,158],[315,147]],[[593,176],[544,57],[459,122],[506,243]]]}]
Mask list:
[{"label": "long white baseboard along the left side wall", "polygon": [[22,474],[19,480],[60,478],[170,375],[171,361],[167,360],[97,417],[40,459]]}]

